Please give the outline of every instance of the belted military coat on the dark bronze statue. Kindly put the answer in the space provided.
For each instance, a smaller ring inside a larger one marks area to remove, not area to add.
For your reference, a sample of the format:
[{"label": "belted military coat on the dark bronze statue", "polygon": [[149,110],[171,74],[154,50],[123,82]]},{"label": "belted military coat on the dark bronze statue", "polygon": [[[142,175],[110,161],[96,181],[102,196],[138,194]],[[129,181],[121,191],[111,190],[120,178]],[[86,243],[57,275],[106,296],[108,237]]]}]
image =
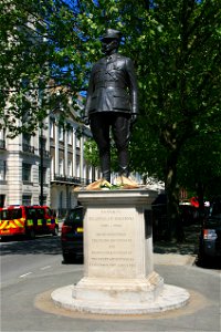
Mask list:
[{"label": "belted military coat on the dark bronze statue", "polygon": [[85,116],[96,112],[136,114],[137,82],[133,62],[118,53],[101,59],[92,69]]}]

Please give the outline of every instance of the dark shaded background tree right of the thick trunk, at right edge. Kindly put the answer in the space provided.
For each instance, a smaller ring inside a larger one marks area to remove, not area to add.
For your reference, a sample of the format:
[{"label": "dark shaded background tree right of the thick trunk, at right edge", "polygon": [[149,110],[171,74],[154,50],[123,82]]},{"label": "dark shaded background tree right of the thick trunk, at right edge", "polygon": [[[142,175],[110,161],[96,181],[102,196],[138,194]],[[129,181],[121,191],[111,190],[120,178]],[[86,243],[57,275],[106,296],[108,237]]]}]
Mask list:
[{"label": "dark shaded background tree right of the thick trunk, at right edge", "polygon": [[201,222],[204,199],[212,200],[221,191],[221,135],[208,134],[190,138],[178,163],[178,181],[199,199]]}]

